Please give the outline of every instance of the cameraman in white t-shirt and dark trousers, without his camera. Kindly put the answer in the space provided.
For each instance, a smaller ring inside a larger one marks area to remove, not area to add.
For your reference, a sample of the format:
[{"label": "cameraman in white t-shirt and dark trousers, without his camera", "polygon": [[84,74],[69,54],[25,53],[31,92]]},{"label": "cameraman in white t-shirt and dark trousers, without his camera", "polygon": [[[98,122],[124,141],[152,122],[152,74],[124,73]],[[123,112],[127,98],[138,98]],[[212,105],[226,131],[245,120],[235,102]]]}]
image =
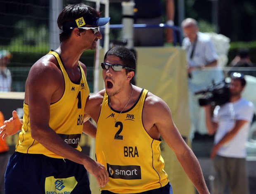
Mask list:
[{"label": "cameraman in white t-shirt and dark trousers, without his camera", "polygon": [[230,100],[216,106],[211,118],[211,106],[206,105],[206,126],[214,133],[211,151],[215,179],[214,194],[223,194],[229,186],[231,194],[249,194],[246,173],[246,147],[250,123],[254,114],[253,104],[241,97],[246,81],[242,73],[230,75]]}]

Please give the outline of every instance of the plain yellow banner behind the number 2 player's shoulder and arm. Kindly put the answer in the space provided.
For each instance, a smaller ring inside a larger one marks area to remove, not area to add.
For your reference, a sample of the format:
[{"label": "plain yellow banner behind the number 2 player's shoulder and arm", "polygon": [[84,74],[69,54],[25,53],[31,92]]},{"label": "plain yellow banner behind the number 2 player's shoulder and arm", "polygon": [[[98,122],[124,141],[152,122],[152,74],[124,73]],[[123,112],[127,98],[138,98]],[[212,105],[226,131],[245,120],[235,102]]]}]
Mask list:
[{"label": "plain yellow banner behind the number 2 player's shoulder and arm", "polygon": [[[180,47],[137,47],[136,51],[137,86],[146,88],[168,104],[175,125],[187,144],[190,144],[185,50]],[[164,141],[161,142],[161,155],[173,193],[194,194],[192,182]]]}]

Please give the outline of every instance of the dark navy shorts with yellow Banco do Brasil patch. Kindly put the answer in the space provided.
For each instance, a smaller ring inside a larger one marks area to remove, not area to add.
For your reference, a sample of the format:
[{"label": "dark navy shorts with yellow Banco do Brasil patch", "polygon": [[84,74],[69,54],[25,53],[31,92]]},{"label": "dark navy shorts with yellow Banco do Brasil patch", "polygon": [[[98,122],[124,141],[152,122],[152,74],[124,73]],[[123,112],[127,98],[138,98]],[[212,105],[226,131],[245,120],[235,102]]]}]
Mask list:
[{"label": "dark navy shorts with yellow Banco do Brasil patch", "polygon": [[15,152],[5,172],[5,194],[90,194],[87,170],[68,159]]}]

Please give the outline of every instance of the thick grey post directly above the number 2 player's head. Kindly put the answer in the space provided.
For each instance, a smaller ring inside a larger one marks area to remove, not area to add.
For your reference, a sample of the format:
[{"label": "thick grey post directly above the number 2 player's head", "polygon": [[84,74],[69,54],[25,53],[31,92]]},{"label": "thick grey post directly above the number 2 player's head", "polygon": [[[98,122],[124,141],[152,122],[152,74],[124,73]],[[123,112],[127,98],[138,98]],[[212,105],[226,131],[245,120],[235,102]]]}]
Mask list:
[{"label": "thick grey post directly above the number 2 player's head", "polygon": [[123,40],[127,41],[126,47],[128,49],[133,48],[133,8],[135,6],[135,3],[133,0],[129,2],[122,2],[122,13],[123,13],[123,19],[122,19],[122,38]]}]

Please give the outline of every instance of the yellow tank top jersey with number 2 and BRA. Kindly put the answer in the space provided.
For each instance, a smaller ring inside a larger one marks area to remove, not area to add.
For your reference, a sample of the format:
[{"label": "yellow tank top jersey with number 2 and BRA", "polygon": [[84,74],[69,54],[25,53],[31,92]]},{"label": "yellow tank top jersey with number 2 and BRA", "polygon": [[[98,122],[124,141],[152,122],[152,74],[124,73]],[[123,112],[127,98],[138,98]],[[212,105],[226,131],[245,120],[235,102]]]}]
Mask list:
[{"label": "yellow tank top jersey with number 2 and BRA", "polygon": [[120,115],[114,109],[110,111],[109,97],[104,94],[97,121],[96,159],[107,168],[110,178],[101,190],[127,194],[168,184],[159,147],[161,140],[152,139],[142,124],[147,92],[142,90],[135,105]]}]

